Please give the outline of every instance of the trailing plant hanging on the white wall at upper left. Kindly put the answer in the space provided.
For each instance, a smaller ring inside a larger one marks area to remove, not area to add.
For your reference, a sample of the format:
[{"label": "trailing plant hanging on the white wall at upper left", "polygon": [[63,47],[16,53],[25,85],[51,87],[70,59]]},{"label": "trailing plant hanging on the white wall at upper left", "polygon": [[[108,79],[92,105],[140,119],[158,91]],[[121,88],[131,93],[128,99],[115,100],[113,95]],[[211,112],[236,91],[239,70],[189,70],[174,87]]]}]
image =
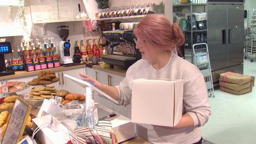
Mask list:
[{"label": "trailing plant hanging on the white wall at upper left", "polygon": [[19,20],[20,23],[23,23],[23,30],[27,32],[27,21],[26,21],[26,0],[19,0],[20,4],[22,6],[19,7],[18,13],[17,13],[17,20]]}]

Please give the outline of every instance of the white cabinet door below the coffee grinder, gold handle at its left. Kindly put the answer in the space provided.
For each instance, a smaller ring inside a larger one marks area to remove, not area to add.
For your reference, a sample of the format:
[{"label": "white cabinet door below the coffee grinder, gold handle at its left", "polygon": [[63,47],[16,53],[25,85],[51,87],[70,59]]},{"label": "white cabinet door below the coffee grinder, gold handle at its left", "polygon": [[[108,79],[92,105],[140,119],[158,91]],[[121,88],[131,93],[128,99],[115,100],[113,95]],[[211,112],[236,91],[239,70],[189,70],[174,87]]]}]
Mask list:
[{"label": "white cabinet door below the coffee grinder, gold handle at its left", "polygon": [[62,90],[67,90],[70,93],[85,94],[85,87],[82,84],[77,84],[71,79],[64,77],[64,74],[68,74],[70,76],[80,79],[79,73],[84,73],[83,68],[60,71]]}]

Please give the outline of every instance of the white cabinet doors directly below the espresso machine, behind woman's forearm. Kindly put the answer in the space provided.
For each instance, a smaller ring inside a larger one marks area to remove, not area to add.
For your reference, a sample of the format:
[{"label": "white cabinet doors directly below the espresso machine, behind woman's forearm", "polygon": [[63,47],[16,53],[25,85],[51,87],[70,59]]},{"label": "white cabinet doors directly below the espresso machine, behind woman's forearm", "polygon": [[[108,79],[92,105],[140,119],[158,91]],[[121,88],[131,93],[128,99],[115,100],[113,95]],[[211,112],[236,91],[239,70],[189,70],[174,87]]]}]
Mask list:
[{"label": "white cabinet doors directly below the espresso machine, behind woman's forearm", "polygon": [[[119,83],[123,80],[123,78],[124,77],[119,76],[119,75],[99,71],[99,80],[101,83],[106,84],[106,85],[111,85],[111,86],[119,85]],[[108,100],[105,98],[102,98],[101,102],[102,102],[103,106],[105,106],[117,113],[120,113],[126,117],[128,116],[127,107],[116,105],[111,100]]]}]

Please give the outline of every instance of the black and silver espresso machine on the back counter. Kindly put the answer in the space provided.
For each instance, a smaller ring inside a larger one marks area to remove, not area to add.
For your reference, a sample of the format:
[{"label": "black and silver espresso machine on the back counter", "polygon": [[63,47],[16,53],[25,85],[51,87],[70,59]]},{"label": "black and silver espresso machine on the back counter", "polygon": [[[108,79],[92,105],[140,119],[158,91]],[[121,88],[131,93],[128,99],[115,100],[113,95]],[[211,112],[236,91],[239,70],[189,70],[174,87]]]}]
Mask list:
[{"label": "black and silver espresso machine on the back counter", "polygon": [[102,46],[110,47],[107,55],[102,55],[101,59],[105,63],[115,66],[129,68],[137,60],[141,59],[141,53],[136,49],[133,31],[103,31],[103,38],[107,39]]}]

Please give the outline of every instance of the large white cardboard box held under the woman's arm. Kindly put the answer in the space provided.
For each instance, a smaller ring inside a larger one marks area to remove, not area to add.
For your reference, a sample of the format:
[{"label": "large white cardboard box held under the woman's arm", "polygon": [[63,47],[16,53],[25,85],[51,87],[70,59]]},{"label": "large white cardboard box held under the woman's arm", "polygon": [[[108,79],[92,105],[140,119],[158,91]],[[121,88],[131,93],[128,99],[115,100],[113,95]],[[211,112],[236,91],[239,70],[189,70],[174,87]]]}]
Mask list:
[{"label": "large white cardboard box held under the woman's arm", "polygon": [[132,86],[132,122],[176,126],[182,117],[183,80],[136,79]]}]

